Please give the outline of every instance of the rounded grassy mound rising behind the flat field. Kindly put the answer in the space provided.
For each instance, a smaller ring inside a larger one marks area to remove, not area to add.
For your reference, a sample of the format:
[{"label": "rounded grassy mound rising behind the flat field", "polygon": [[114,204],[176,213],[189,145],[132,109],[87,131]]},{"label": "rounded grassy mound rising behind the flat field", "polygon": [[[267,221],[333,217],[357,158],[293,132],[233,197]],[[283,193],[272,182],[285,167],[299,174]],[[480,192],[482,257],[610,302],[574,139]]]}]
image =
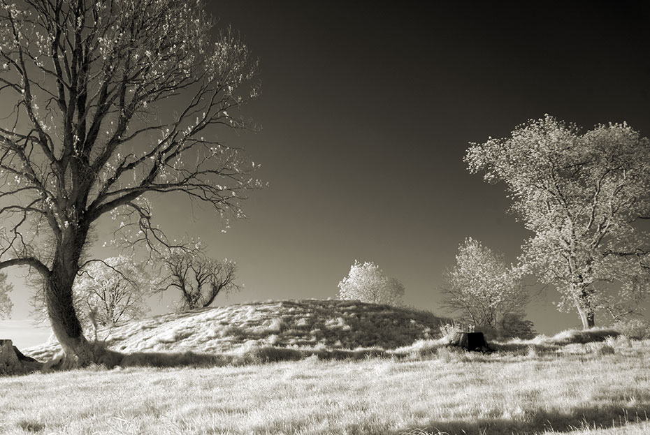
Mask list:
[{"label": "rounded grassy mound rising behind the flat field", "polygon": [[[341,300],[252,302],[136,320],[98,336],[121,353],[236,353],[251,346],[393,349],[438,336],[445,319],[426,311]],[[48,360],[48,343],[24,350]]]}]

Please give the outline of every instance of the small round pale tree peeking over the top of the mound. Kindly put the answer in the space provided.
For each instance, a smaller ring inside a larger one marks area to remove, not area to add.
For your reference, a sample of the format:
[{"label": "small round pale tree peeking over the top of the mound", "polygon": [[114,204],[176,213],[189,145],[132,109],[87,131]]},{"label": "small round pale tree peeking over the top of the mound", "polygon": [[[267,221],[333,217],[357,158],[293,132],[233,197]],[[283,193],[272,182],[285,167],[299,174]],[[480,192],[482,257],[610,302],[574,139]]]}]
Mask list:
[{"label": "small round pale tree peeking over the top of the mound", "polygon": [[338,283],[339,298],[360,300],[373,304],[399,306],[404,296],[404,286],[400,281],[389,278],[373,262],[359,263],[354,260],[347,277]]}]

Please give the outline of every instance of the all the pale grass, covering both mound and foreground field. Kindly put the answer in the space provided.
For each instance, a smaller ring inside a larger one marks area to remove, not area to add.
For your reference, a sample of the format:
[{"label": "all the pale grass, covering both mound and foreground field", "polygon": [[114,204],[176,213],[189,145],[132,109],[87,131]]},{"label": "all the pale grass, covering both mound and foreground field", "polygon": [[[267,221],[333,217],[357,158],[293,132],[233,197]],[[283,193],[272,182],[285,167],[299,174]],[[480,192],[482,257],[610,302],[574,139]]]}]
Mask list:
[{"label": "all the pale grass, covering both mound and foreground field", "polygon": [[466,353],[442,320],[315,300],[138,320],[105,332],[115,369],[0,377],[0,434],[650,434],[649,340],[567,331]]}]

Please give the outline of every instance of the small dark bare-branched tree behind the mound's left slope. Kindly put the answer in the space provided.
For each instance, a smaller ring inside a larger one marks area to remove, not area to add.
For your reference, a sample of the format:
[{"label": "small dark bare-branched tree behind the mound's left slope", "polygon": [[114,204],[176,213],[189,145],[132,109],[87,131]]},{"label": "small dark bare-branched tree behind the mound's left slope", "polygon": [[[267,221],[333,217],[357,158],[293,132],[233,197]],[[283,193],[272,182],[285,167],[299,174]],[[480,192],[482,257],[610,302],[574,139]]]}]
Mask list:
[{"label": "small dark bare-branched tree behind the mound's left slope", "polygon": [[176,250],[163,258],[169,274],[162,292],[177,288],[182,309],[208,307],[219,293],[238,290],[237,264],[229,260],[213,260],[198,251]]}]

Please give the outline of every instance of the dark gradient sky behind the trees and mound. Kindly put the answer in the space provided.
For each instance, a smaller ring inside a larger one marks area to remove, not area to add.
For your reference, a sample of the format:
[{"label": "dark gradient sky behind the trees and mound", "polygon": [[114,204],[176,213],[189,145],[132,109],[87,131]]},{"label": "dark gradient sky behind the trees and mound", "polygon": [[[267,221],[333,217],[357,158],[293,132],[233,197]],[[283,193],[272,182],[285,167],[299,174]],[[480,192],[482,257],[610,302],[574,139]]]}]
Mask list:
[{"label": "dark gradient sky behind the trees and mound", "polygon": [[[236,260],[244,288],[215,305],[335,298],[359,260],[402,282],[405,304],[445,315],[443,273],[466,237],[509,262],[530,237],[503,185],[468,172],[470,142],[547,113],[650,135],[647,2],[207,3],[259,57],[261,96],[244,110],[259,131],[223,134],[261,163],[268,187],[226,233],[180,197],[157,198],[154,221]],[[10,274],[15,307],[0,335],[38,344],[49,331],[31,325],[29,290]],[[175,298],[152,298],[151,314]],[[558,299],[551,288],[528,306],[537,332],[579,327]]]}]

